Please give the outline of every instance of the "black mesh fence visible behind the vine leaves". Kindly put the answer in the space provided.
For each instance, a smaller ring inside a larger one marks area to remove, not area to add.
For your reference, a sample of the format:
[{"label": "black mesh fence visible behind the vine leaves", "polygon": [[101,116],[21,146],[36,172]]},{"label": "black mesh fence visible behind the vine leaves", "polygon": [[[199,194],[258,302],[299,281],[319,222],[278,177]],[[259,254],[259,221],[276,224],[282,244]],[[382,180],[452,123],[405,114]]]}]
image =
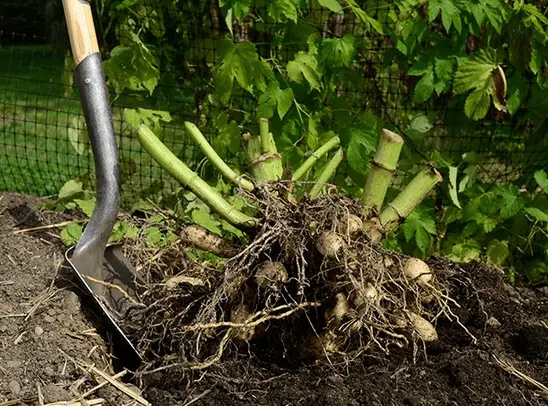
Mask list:
[{"label": "black mesh fence visible behind the vine leaves", "polygon": [[[2,16],[5,10],[0,8],[0,190],[4,191],[53,195],[74,177],[87,178],[93,183],[93,160],[85,137],[78,89],[71,80],[70,63],[66,63],[67,58],[70,60],[70,51],[61,2],[46,3],[50,8],[32,18],[13,13]],[[170,111],[176,117],[162,124],[162,139],[198,170],[202,156],[187,138],[183,122],[211,119],[202,116],[200,103],[210,86],[210,64],[217,56],[217,40],[222,36],[222,17],[217,4],[217,1],[206,0],[150,0],[150,7],[141,11],[149,13],[151,26],[155,16],[161,17],[158,17],[157,29],[170,46],[166,52],[174,55],[170,63],[162,67],[152,102],[154,109]],[[189,13],[183,27],[180,22],[172,24],[169,18],[170,13],[180,11],[170,9],[175,5]],[[99,21],[105,16],[99,15],[97,9],[95,7],[98,30],[104,33],[108,30]],[[375,8],[372,10],[372,15],[382,20],[385,14],[377,16]],[[308,12],[325,13],[325,26],[312,27],[324,36],[337,35],[342,30],[361,38],[356,55],[361,66],[361,71],[356,73],[361,76],[361,87],[339,85],[344,108],[372,111],[404,134],[410,118],[427,114],[432,118],[433,128],[426,137],[409,141],[413,148],[426,158],[431,157],[434,149],[455,157],[470,151],[487,154],[481,165],[481,176],[487,182],[513,181],[547,166],[548,156],[539,148],[527,146],[530,129],[519,120],[519,113],[502,119],[496,113],[489,113],[479,125],[471,127],[465,124],[469,120],[463,117],[463,106],[454,105],[449,96],[438,98],[434,103],[414,103],[415,78],[383,67],[386,51],[391,47],[388,37],[363,34],[353,20],[329,17],[328,10]],[[273,49],[275,51],[272,44],[278,38],[274,26],[244,22],[234,30],[237,38],[252,41],[259,55],[268,57]],[[104,48],[111,50],[119,38],[120,32],[111,30],[101,42]],[[276,56],[289,61],[306,46],[306,42],[296,42],[294,47],[283,47],[283,54]],[[141,150],[135,133],[123,119],[124,108],[152,108],[150,100],[131,92],[116,94],[113,91],[111,101],[124,196],[131,199],[175,186],[169,175]],[[226,110],[229,117],[237,120],[240,112],[255,107],[253,99],[241,92],[232,96]],[[340,171],[344,175],[347,168],[343,165]]]}]

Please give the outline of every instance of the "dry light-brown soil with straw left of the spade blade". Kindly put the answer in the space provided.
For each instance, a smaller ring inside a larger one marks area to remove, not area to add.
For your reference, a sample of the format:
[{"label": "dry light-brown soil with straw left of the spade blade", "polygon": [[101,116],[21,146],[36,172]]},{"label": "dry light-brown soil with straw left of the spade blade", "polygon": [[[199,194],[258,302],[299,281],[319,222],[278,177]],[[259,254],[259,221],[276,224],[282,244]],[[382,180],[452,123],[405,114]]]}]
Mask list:
[{"label": "dry light-brown soil with straw left of the spade blade", "polygon": [[[0,193],[0,405],[40,404],[37,386],[45,404],[78,398],[94,387],[93,375],[69,357],[114,374],[98,319],[63,266],[57,229],[14,234],[67,220],[40,213],[39,203]],[[90,398],[130,404],[108,386]]]}]

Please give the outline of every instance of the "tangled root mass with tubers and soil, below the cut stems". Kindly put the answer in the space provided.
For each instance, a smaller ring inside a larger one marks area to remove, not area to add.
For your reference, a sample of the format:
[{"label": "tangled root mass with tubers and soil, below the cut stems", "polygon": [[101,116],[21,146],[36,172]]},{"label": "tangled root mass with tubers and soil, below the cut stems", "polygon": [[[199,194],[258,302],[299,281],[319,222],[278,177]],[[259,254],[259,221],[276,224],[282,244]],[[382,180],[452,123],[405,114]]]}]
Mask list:
[{"label": "tangled root mass with tubers and soil, below the cut stems", "polygon": [[476,339],[459,321],[446,265],[380,248],[348,197],[294,202],[286,192],[280,183],[250,195],[262,225],[220,267],[182,259],[175,272],[146,275],[142,306],[125,318],[146,357],[141,374],[205,370],[242,349],[284,367],[404,348],[416,357],[440,320]]}]

